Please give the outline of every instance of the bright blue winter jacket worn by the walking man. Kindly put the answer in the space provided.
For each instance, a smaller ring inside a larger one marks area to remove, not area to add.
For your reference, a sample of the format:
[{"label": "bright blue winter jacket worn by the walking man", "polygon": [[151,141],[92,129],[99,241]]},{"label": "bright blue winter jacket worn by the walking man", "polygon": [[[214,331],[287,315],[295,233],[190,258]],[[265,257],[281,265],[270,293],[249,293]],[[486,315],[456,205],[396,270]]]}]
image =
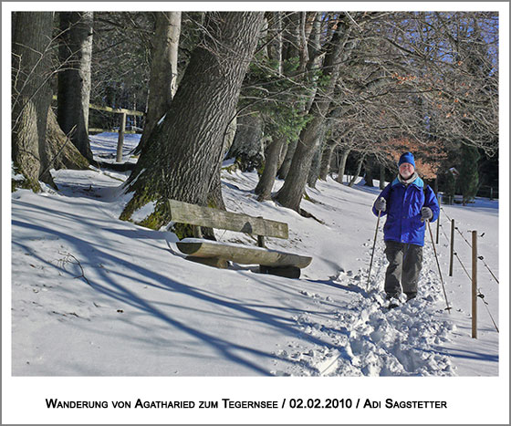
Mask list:
[{"label": "bright blue winter jacket worn by the walking man", "polygon": [[[431,222],[436,221],[440,213],[436,195],[430,186],[424,191],[424,182],[419,177],[407,186],[396,178],[385,187],[380,197],[387,201],[387,210],[381,212],[381,216],[387,215],[383,227],[385,241],[424,245],[426,223],[421,222],[421,209],[429,207],[432,210]],[[372,213],[378,215],[374,205]]]}]

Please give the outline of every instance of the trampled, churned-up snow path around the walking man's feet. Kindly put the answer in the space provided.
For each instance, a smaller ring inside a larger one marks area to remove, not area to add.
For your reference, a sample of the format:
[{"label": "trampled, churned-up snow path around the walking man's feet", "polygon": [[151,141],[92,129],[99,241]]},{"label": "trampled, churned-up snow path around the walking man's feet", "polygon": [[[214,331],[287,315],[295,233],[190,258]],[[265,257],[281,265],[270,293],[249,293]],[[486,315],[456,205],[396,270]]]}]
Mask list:
[{"label": "trampled, churned-up snow path around the walking man's feet", "polygon": [[[427,242],[426,242],[427,243]],[[370,254],[369,254],[370,255]],[[440,279],[433,249],[424,246],[419,294],[400,307],[388,309],[383,282],[387,261],[383,242],[375,250],[370,288],[368,270],[339,272],[333,284],[352,293],[349,303],[330,313],[323,324],[310,316],[296,317],[303,333],[325,342],[312,348],[289,343],[281,358],[299,362],[278,375],[298,376],[454,376],[455,367],[441,345],[456,330],[443,319]],[[308,294],[321,300],[318,294]],[[291,354],[289,354],[291,352]]]}]

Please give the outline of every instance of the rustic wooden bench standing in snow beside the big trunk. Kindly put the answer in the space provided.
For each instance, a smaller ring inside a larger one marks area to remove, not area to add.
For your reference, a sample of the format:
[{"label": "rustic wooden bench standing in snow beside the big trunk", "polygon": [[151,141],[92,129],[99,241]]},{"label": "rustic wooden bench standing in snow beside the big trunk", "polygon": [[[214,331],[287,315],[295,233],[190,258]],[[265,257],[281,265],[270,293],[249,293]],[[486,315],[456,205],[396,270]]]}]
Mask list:
[{"label": "rustic wooden bench standing in snow beside the big trunk", "polygon": [[[259,265],[261,273],[289,278],[299,278],[300,269],[312,261],[312,257],[265,247],[265,237],[288,238],[287,223],[176,200],[169,200],[169,208],[172,222],[193,226],[194,238],[184,238],[176,243],[189,260],[221,268],[226,268],[228,261],[241,265]],[[257,246],[205,240],[202,238],[201,226],[256,235]]]}]

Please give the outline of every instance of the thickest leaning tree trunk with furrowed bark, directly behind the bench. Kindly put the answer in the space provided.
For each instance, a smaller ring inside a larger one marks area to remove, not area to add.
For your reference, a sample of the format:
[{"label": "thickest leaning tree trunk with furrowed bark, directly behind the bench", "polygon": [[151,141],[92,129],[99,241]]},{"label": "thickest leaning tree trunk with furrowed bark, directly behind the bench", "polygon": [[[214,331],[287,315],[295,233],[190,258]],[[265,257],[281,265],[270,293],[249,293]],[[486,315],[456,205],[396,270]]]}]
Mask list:
[{"label": "thickest leaning tree trunk with furrowed bark, directly behind the bench", "polygon": [[142,148],[127,182],[126,192],[134,194],[121,219],[130,219],[141,206],[155,202],[142,224],[159,228],[170,220],[169,198],[206,205],[263,15],[205,15],[203,38],[193,49],[171,108]]}]

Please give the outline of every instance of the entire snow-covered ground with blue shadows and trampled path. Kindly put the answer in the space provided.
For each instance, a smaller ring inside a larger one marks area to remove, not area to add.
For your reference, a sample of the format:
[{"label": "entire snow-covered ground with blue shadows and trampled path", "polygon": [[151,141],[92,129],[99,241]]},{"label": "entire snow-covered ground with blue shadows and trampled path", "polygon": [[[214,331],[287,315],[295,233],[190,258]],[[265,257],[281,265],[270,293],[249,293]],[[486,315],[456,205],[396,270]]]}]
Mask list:
[{"label": "entire snow-covered ground with blue shadows and trampled path", "polygon": [[[116,143],[109,135],[95,140],[93,151],[103,158]],[[289,240],[269,239],[268,246],[313,256],[301,278],[292,280],[260,275],[255,266],[194,264],[176,253],[173,234],[121,222],[126,173],[54,171],[54,177],[59,192],[12,195],[12,293],[11,306],[4,306],[4,316],[9,310],[11,316],[4,319],[12,321],[7,373],[15,378],[497,378],[503,369],[508,378],[502,364],[507,353],[499,351],[499,343],[508,344],[507,309],[499,316],[506,284],[500,287],[479,265],[485,298],[474,339],[470,281],[459,263],[447,276],[448,216],[467,239],[472,229],[484,234],[479,252],[499,277],[497,201],[443,206],[436,247],[451,314],[444,310],[429,235],[419,296],[388,311],[382,298],[384,221],[367,286],[376,188],[318,182],[318,189],[308,189],[311,201],[302,203],[314,218],[304,218],[273,202],[257,203],[255,173],[224,172],[229,210],[287,222]],[[254,244],[230,232],[217,237]],[[461,236],[456,244],[470,268],[470,248]]]}]

